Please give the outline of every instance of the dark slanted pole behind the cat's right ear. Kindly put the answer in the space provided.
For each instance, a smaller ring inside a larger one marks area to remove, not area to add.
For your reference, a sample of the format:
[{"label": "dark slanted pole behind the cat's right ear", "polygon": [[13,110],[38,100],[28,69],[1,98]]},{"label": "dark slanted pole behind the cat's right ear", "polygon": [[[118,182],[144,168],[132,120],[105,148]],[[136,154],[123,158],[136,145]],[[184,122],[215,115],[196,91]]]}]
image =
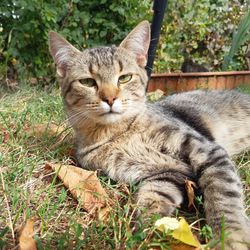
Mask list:
[{"label": "dark slanted pole behind the cat's right ear", "polygon": [[149,79],[153,70],[155,52],[160,37],[161,25],[164,18],[164,12],[166,6],[167,6],[167,0],[154,0],[154,5],[153,5],[154,15],[151,24],[151,41],[148,49],[148,63],[146,66]]}]

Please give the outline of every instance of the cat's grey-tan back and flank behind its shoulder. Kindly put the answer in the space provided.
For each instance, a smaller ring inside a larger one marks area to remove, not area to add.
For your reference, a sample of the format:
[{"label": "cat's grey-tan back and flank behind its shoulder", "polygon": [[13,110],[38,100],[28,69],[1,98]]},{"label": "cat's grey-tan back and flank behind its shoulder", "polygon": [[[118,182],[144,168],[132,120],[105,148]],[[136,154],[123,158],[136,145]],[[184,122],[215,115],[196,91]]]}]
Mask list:
[{"label": "cat's grey-tan back and flank behind its shoulder", "polygon": [[217,141],[231,155],[250,145],[250,95],[196,90],[166,97],[156,105],[164,115]]}]

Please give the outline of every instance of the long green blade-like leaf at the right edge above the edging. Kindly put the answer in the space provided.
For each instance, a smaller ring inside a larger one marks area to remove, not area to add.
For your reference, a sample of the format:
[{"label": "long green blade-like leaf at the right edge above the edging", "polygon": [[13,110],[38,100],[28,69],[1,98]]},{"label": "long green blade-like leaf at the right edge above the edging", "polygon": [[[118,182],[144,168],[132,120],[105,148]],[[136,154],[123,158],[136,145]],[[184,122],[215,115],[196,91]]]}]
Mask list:
[{"label": "long green blade-like leaf at the right edge above the edging", "polygon": [[240,21],[237,31],[233,33],[232,46],[228,54],[224,57],[224,62],[222,65],[223,70],[227,70],[230,64],[233,62],[233,57],[239,50],[240,46],[250,40],[250,10],[245,14],[245,16]]}]

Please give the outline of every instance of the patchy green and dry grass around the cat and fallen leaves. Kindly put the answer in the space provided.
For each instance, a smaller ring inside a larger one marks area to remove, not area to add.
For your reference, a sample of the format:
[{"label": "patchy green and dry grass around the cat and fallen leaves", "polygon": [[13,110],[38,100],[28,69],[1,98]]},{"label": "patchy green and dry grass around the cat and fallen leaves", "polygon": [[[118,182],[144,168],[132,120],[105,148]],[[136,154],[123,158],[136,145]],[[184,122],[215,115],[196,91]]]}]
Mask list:
[{"label": "patchy green and dry grass around the cat and fallen leaves", "polygon": [[[31,217],[36,218],[38,249],[170,249],[169,235],[153,227],[157,215],[147,221],[134,216],[136,187],[101,177],[115,201],[109,220],[103,223],[83,211],[55,175],[43,167],[46,161],[74,162],[69,153],[72,145],[60,140],[59,132],[53,136],[46,131],[39,136],[28,133],[37,124],[65,125],[57,88],[49,94],[27,85],[15,92],[3,88],[0,92],[0,249],[17,246],[19,228]],[[236,161],[249,214],[250,154]],[[196,199],[202,207],[201,198]],[[202,214],[179,211],[179,215],[193,223],[201,241],[212,238],[211,228],[199,221]]]}]

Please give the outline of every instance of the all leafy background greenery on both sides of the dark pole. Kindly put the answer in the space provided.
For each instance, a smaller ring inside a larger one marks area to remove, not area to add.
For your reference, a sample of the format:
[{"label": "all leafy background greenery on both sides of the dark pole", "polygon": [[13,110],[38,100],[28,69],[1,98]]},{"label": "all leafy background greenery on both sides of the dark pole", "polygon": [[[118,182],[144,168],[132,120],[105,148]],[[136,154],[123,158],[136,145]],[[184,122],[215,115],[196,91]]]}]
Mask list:
[{"label": "all leafy background greenery on both sides of the dark pole", "polygon": [[[151,20],[151,5],[151,0],[2,0],[0,80],[10,86],[23,79],[51,82],[49,30],[78,48],[119,44],[139,21]],[[249,0],[169,0],[155,71],[178,71],[185,57],[221,70],[233,30],[248,6]],[[248,50],[247,44],[241,46],[232,70],[248,68]]]}]

